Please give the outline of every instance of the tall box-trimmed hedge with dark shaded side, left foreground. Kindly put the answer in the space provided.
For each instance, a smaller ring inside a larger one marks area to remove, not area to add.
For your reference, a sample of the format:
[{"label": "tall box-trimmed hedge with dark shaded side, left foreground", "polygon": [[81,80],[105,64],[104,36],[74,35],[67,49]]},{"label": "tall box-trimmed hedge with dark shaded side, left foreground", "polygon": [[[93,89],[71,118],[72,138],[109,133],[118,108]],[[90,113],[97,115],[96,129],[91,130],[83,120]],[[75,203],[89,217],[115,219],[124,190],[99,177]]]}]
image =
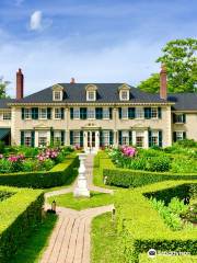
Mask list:
[{"label": "tall box-trimmed hedge with dark shaded side, left foreground", "polygon": [[0,191],[11,194],[0,203],[0,262],[8,263],[40,222],[44,193],[7,186],[0,186]]}]

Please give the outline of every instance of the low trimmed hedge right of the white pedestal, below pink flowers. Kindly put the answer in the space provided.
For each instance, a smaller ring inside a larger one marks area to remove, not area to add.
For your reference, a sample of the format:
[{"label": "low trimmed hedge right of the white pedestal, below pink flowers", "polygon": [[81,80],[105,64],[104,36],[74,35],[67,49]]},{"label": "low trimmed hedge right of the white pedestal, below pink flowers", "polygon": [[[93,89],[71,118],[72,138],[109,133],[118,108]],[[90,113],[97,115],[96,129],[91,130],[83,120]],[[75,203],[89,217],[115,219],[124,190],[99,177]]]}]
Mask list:
[{"label": "low trimmed hedge right of the white pedestal, below pink flowers", "polygon": [[147,184],[162,182],[166,180],[197,180],[197,173],[172,173],[172,172],[147,172],[139,170],[116,168],[105,152],[99,152],[97,162],[100,163],[103,179],[107,185],[120,187],[138,187]]}]

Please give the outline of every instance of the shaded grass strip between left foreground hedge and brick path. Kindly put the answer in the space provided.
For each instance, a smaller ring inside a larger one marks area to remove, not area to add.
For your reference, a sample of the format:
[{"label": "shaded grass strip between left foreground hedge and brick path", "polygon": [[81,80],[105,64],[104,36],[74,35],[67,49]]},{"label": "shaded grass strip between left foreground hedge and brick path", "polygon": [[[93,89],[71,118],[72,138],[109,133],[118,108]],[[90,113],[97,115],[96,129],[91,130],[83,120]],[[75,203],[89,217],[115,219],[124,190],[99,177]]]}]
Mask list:
[{"label": "shaded grass strip between left foreground hedge and brick path", "polygon": [[57,216],[47,215],[44,221],[37,226],[26,243],[18,251],[9,263],[38,263],[48,244],[49,236],[56,225]]}]

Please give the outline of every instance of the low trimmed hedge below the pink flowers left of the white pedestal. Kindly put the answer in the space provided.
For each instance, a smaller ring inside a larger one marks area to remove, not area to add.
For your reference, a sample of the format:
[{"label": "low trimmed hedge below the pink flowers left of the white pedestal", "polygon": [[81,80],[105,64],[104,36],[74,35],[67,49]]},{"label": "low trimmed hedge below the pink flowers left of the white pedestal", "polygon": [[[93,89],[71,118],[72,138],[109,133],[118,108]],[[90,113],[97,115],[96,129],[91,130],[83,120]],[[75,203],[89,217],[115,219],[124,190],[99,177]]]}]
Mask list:
[{"label": "low trimmed hedge below the pink flowers left of the white pedestal", "polygon": [[63,185],[77,171],[79,159],[76,153],[69,155],[47,172],[19,172],[0,174],[0,185],[16,187],[48,188]]}]

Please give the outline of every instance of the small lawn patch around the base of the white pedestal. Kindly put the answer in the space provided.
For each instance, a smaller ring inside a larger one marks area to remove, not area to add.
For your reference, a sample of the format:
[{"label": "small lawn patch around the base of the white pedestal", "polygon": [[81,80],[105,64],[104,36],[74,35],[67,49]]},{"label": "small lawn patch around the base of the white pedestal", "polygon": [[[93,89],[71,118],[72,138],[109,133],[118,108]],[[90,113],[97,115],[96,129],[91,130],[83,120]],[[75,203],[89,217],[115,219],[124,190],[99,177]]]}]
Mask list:
[{"label": "small lawn patch around the base of the white pedestal", "polygon": [[49,204],[51,204],[53,201],[56,201],[57,206],[72,208],[76,210],[82,210],[86,208],[113,204],[114,196],[111,194],[91,192],[91,197],[89,198],[89,197],[73,197],[73,193],[68,193],[51,196],[47,201]]}]

